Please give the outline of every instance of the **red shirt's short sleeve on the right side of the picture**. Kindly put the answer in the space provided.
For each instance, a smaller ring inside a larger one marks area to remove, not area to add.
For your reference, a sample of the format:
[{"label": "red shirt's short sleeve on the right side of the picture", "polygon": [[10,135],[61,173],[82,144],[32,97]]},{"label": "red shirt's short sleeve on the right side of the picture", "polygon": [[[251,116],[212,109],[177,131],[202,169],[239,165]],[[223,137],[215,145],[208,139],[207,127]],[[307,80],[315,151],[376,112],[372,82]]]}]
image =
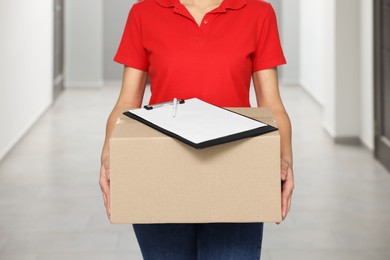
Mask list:
[{"label": "red shirt's short sleeve on the right side of the picture", "polygon": [[257,32],[257,47],[253,55],[253,71],[273,68],[286,64],[280,43],[276,14],[271,4],[260,21]]}]

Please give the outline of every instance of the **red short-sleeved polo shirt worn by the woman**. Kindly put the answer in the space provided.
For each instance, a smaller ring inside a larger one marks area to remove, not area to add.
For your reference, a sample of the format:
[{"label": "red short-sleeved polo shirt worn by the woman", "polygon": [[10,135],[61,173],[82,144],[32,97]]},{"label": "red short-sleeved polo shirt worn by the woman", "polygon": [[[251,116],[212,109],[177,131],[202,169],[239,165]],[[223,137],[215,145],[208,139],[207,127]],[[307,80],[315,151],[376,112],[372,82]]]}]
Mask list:
[{"label": "red short-sleeved polo shirt worn by the woman", "polygon": [[197,97],[222,107],[249,107],[252,73],[285,63],[261,0],[224,0],[200,26],[179,0],[138,2],[114,60],[149,72],[151,104]]}]

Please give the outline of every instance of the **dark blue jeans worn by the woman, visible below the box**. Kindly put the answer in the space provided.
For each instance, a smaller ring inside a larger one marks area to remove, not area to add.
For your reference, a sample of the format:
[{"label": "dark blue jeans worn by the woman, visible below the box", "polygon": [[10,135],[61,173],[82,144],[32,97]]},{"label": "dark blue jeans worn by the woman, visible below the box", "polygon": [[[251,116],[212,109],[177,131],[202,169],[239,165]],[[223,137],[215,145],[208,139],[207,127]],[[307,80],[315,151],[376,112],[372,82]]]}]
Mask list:
[{"label": "dark blue jeans worn by the woman, visible below the box", "polygon": [[263,223],[134,224],[144,260],[259,260]]}]

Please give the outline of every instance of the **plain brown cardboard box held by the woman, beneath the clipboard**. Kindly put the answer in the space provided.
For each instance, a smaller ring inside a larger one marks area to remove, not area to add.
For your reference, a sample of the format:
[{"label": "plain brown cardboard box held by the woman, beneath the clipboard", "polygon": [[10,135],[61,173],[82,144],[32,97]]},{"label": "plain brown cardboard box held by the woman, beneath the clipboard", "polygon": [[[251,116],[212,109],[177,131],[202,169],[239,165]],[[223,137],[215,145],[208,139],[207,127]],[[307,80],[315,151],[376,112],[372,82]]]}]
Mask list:
[{"label": "plain brown cardboard box held by the woman, beneath the clipboard", "polygon": [[[269,109],[232,110],[275,125]],[[122,115],[110,152],[112,223],[281,220],[278,131],[197,150]]]}]

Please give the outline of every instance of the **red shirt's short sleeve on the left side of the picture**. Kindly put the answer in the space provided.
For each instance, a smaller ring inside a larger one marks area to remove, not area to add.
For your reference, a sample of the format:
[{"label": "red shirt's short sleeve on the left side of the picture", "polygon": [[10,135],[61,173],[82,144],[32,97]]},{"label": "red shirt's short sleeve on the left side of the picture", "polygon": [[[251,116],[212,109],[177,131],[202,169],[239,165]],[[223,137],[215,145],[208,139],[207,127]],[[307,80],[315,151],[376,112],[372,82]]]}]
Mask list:
[{"label": "red shirt's short sleeve on the left side of the picture", "polygon": [[135,69],[148,71],[148,53],[142,44],[141,21],[137,12],[137,4],[135,4],[129,12],[114,61]]}]

